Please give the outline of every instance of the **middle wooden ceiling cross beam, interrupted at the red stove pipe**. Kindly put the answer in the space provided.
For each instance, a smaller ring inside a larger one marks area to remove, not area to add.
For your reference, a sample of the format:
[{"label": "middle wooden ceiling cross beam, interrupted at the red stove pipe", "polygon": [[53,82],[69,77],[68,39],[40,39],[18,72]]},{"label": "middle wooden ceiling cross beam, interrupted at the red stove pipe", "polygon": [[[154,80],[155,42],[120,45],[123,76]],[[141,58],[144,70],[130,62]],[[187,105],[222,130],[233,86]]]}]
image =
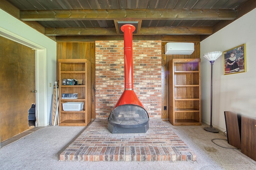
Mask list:
[{"label": "middle wooden ceiling cross beam, interrupted at the red stove pipe", "polygon": [[[212,27],[141,27],[139,33],[134,35],[210,35]],[[45,35],[117,35],[116,29],[112,28],[81,28],[81,27],[64,27],[64,28],[45,28]]]}]

